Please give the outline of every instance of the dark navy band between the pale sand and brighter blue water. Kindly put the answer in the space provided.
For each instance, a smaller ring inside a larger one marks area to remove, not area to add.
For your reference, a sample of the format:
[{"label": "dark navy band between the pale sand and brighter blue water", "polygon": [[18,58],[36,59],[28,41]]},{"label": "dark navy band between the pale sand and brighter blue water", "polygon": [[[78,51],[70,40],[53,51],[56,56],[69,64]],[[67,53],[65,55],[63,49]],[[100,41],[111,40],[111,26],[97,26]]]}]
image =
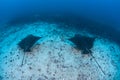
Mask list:
[{"label": "dark navy band between the pale sand and brighter blue water", "polygon": [[8,26],[10,25],[23,25],[29,24],[36,21],[45,21],[49,23],[57,23],[68,25],[69,27],[75,27],[80,30],[87,30],[90,33],[99,35],[104,38],[108,38],[111,41],[116,42],[120,45],[120,30],[115,28],[115,26],[109,24],[103,24],[92,19],[86,18],[84,16],[79,16],[71,13],[62,13],[62,14],[46,14],[46,13],[37,13],[37,14],[29,14],[29,15],[21,15],[19,17],[13,18],[8,22]]}]

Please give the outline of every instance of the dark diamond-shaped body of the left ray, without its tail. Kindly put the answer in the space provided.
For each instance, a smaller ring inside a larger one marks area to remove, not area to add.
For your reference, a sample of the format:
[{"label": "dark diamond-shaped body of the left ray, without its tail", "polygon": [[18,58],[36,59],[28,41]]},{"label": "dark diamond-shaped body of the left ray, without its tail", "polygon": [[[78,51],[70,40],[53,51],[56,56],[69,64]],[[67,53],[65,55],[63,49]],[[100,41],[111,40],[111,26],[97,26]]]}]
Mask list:
[{"label": "dark diamond-shaped body of the left ray, without its tail", "polygon": [[24,52],[29,52],[31,47],[35,44],[37,40],[41,37],[33,36],[32,34],[25,37],[22,41],[18,43],[19,47],[24,50]]}]

